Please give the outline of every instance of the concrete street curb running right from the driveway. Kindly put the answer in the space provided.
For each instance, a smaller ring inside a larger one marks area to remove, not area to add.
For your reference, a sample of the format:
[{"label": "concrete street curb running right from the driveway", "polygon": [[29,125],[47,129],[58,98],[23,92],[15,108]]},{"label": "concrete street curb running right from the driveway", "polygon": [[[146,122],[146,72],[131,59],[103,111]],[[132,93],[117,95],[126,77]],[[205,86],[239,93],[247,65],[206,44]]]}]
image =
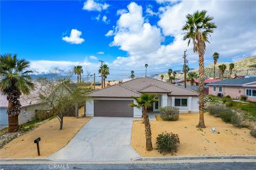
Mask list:
[{"label": "concrete street curb running right from the driveway", "polygon": [[140,157],[132,159],[139,160],[202,160],[202,159],[256,159],[256,155],[223,155],[223,156],[194,156],[194,157]]}]

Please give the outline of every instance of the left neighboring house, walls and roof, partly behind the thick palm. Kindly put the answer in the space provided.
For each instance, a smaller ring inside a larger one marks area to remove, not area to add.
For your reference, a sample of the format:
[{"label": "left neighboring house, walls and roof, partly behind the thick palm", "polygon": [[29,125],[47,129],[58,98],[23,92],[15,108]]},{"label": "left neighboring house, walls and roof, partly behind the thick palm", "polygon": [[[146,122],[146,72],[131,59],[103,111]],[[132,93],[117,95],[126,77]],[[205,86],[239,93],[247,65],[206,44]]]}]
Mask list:
[{"label": "left neighboring house, walls and roof, partly behind the thick palm", "polygon": [[[39,91],[35,88],[35,90],[30,91],[30,95],[21,95],[20,96],[20,104],[21,111],[19,114],[19,124],[27,123],[32,121],[36,115],[36,110],[48,110],[49,106],[45,103],[42,103],[38,99]],[[5,95],[0,94],[0,125],[7,126],[8,125],[8,100]]]}]

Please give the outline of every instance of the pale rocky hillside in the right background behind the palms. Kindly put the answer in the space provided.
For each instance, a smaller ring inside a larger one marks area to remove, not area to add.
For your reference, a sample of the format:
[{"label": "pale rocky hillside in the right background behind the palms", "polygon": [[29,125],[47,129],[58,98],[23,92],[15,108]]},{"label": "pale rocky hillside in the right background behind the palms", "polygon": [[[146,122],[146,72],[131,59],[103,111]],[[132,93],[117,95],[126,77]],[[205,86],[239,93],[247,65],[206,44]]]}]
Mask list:
[{"label": "pale rocky hillside in the right background behind the palms", "polygon": [[[256,74],[256,56],[251,56],[251,57],[245,57],[241,60],[238,60],[236,62],[233,62],[235,64],[234,70],[233,70],[233,74],[232,75],[247,75],[247,74]],[[229,76],[229,64],[228,62],[218,62],[215,66],[216,68],[216,77],[219,76],[219,68],[218,66],[221,64],[225,64],[227,65],[227,69],[224,73],[224,77],[228,77]],[[205,71],[205,77],[207,78],[212,78],[213,77],[213,67],[214,64],[209,64],[207,66],[205,66],[204,71]],[[190,71],[191,72],[191,71]],[[198,69],[194,69],[193,72],[196,72],[198,74]],[[161,74],[162,75],[162,74]],[[158,77],[160,78],[161,75],[158,75]],[[168,74],[165,73],[164,75],[164,80],[168,79]],[[184,75],[183,74],[177,74],[176,77],[178,79],[183,79]]]}]

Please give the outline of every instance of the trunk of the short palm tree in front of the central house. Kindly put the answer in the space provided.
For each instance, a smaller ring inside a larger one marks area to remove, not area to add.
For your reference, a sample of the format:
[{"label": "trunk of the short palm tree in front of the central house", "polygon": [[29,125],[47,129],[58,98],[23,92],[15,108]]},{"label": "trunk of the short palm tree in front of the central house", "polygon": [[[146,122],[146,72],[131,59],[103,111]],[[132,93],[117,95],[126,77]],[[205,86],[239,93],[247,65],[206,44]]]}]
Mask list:
[{"label": "trunk of the short palm tree in front of the central house", "polygon": [[151,138],[152,138],[151,137],[151,128],[150,128],[150,122],[149,122],[147,111],[146,111],[145,115],[143,116],[143,123],[145,124],[146,150],[151,151],[151,150],[153,150],[153,146],[152,146],[152,141],[151,141]]}]

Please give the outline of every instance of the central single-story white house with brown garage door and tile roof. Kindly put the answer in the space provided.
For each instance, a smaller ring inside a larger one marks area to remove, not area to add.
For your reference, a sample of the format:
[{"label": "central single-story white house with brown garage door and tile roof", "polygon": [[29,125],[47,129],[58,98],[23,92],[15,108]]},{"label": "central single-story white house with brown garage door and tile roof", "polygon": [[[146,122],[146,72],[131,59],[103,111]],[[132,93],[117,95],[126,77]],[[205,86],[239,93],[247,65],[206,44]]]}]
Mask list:
[{"label": "central single-story white house with brown garage door and tile roof", "polygon": [[196,91],[154,78],[135,78],[86,94],[90,97],[86,101],[86,116],[141,117],[141,109],[130,107],[135,103],[132,96],[140,97],[141,94],[157,95],[158,101],[149,108],[151,112],[159,112],[160,107],[175,106],[180,112],[198,113]]}]

